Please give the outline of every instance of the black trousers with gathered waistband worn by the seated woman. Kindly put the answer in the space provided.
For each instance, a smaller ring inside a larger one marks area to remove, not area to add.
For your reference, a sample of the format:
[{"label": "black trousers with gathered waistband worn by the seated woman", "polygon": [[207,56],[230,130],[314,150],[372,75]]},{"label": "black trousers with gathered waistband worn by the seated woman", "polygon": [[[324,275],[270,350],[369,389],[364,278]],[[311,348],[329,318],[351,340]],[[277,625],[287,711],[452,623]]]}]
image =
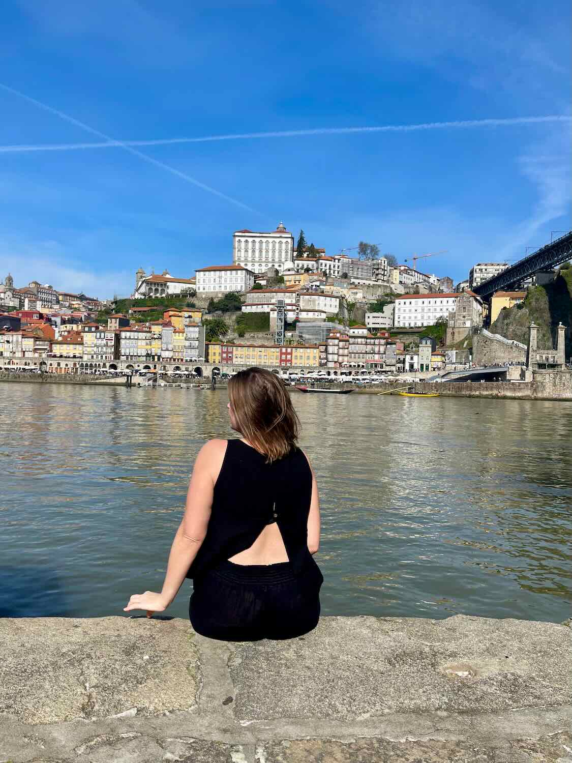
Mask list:
[{"label": "black trousers with gathered waistband worn by the seated woman", "polygon": [[322,584],[314,559],[308,574],[299,576],[290,562],[237,565],[226,559],[194,579],[191,626],[220,641],[295,639],[320,620]]}]

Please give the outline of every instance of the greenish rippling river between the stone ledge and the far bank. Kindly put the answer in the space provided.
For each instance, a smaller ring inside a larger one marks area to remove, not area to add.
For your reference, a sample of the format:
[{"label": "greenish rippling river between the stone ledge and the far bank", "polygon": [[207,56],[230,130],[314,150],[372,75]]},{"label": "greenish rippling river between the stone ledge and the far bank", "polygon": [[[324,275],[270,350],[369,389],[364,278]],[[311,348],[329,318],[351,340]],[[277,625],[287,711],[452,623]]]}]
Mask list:
[{"label": "greenish rippling river between the stone ledge and the far bank", "polygon": [[[0,615],[121,615],[159,591],[193,459],[234,436],[226,391],[0,388]],[[570,617],[572,403],[293,400],[323,615]],[[190,593],[167,614],[187,617]]]}]

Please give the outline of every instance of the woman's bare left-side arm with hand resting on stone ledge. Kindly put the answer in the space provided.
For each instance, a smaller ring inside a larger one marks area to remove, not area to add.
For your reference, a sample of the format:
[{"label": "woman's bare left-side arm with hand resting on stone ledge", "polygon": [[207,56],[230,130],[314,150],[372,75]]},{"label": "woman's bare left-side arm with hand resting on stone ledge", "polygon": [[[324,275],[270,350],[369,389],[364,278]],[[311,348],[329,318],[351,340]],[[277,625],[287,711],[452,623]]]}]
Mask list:
[{"label": "woman's bare left-side arm with hand resting on stone ledge", "polygon": [[149,610],[162,612],[177,595],[188,568],[201,548],[207,535],[210,520],[210,507],[213,503],[214,484],[222,466],[227,441],[213,439],[206,443],[194,462],[191,481],[188,485],[185,516],[173,539],[165,582],[160,594],[145,591],[130,597],[125,612],[130,610]]}]

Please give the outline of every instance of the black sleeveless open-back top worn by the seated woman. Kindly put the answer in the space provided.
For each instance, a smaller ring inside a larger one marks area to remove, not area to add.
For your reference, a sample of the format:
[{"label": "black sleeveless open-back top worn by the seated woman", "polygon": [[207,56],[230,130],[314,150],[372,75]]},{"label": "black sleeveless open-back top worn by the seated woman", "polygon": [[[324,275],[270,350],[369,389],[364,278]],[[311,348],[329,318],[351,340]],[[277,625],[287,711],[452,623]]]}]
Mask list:
[{"label": "black sleeveless open-back top worn by the seated woman", "polygon": [[267,524],[278,523],[294,575],[316,567],[307,546],[312,472],[294,448],[272,464],[240,439],[230,439],[214,485],[207,535],[187,578],[198,578],[223,559],[252,546]]}]

